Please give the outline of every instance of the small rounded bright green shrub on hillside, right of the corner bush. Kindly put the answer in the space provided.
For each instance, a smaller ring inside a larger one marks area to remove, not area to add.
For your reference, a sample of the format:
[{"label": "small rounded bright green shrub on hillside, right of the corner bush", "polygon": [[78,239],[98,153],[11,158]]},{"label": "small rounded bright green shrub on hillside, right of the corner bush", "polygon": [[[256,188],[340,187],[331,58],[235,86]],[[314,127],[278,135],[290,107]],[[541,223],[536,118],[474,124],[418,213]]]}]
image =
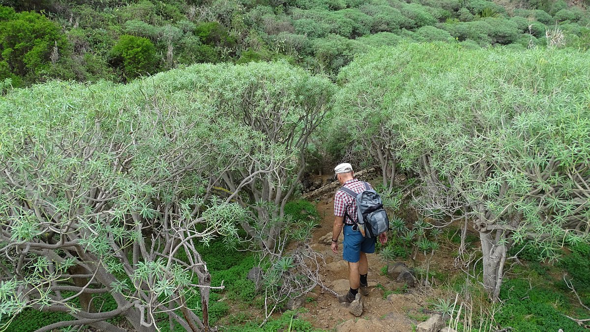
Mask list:
[{"label": "small rounded bright green shrub on hillside, right of the corner bush", "polygon": [[122,35],[114,45],[111,57],[127,79],[156,73],[156,47],[147,38]]}]

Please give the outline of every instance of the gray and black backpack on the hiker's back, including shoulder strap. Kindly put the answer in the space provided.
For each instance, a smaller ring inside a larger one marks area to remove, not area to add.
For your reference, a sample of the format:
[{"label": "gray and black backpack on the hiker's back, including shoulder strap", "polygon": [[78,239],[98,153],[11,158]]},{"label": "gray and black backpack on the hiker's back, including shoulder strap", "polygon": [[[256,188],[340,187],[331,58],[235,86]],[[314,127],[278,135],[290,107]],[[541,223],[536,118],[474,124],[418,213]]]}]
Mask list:
[{"label": "gray and black backpack on the hiker's back, including shoulder strap", "polygon": [[[356,218],[360,232],[365,238],[375,238],[379,234],[389,231],[389,218],[381,196],[371,189],[369,183],[363,182],[365,190],[360,193],[353,192],[349,188],[340,187],[338,190],[347,193],[356,200]],[[348,213],[345,213],[348,216]],[[352,221],[353,219],[348,216]]]}]

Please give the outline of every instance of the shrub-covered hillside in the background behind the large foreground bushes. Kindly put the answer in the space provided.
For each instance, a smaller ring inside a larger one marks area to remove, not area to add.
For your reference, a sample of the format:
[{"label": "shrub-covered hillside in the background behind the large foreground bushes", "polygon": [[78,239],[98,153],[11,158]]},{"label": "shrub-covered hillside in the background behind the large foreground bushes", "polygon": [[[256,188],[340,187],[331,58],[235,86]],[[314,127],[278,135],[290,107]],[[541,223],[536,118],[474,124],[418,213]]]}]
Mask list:
[{"label": "shrub-covered hillside in the background behind the large foreground bushes", "polygon": [[194,63],[281,58],[335,77],[355,54],[402,40],[590,47],[588,11],[563,0],[509,7],[487,0],[2,3],[0,79],[13,86],[51,78],[128,81]]}]

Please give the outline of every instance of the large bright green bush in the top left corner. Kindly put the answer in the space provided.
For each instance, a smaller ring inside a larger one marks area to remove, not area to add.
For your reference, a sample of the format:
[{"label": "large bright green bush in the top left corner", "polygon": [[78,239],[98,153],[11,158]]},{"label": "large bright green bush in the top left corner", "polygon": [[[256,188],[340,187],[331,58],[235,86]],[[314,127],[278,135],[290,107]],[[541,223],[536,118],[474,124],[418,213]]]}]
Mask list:
[{"label": "large bright green bush in the top left corner", "polygon": [[38,80],[51,71],[55,46],[58,59],[69,57],[70,44],[54,22],[35,12],[15,13],[0,6],[0,80],[17,76],[27,77],[27,83]]}]

